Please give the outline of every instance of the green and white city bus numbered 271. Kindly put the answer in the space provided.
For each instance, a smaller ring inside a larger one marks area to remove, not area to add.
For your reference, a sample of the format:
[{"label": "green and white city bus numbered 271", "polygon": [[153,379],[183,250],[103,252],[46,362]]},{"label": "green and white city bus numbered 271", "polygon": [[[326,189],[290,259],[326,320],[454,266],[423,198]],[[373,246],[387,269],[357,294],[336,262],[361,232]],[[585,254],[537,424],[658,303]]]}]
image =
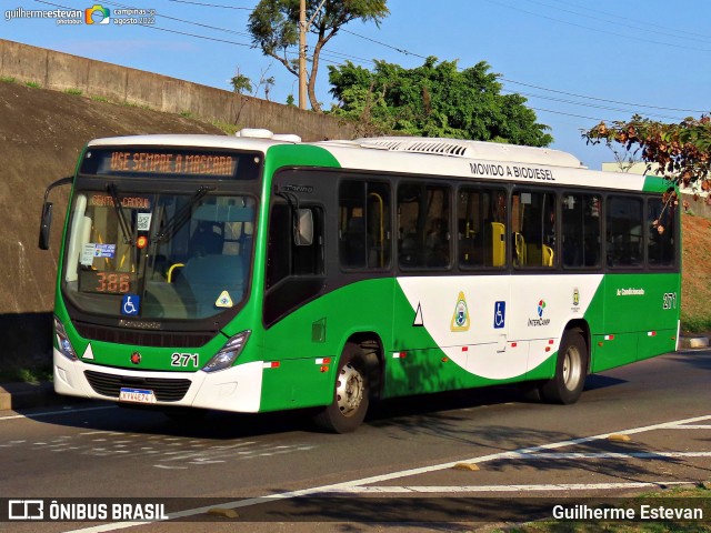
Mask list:
[{"label": "green and white city bus numbered 271", "polygon": [[[549,149],[242,130],[94,140],[50,189],[70,181],[60,394],[313,408],[349,432],[394,396],[530,382],[572,403],[588,374],[677,348],[660,178]],[[42,248],[50,221],[46,194]]]}]

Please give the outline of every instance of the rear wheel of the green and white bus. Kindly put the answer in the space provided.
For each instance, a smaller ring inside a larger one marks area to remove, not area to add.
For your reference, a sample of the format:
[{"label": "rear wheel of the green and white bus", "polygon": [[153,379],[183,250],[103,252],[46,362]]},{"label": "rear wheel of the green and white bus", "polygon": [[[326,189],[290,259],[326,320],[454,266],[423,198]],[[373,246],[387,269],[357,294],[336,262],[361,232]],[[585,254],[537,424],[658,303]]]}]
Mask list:
[{"label": "rear wheel of the green and white bus", "polygon": [[585,385],[588,359],[580,330],[567,330],[558,350],[555,375],[541,385],[541,398],[550,403],[575,403]]}]

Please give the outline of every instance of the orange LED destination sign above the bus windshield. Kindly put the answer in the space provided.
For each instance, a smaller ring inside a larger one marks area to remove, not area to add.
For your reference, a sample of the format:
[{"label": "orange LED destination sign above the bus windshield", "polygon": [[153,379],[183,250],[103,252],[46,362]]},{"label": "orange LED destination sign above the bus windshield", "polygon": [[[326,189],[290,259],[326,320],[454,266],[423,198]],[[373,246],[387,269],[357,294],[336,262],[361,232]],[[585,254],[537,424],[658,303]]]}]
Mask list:
[{"label": "orange LED destination sign above the bus windshield", "polygon": [[257,153],[119,147],[87,151],[80,173],[123,177],[251,180],[263,158]]}]

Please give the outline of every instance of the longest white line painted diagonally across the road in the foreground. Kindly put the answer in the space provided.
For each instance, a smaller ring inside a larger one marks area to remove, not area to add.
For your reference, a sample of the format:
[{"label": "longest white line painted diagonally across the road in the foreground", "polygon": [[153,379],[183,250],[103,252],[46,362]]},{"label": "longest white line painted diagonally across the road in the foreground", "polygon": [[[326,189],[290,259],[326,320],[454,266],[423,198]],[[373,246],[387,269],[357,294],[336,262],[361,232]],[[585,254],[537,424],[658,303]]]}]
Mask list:
[{"label": "longest white line painted diagonally across the road in the foreground", "polygon": [[[524,447],[521,450],[515,450],[513,452],[500,452],[500,453],[492,453],[489,455],[482,455],[479,457],[472,457],[472,459],[468,459],[468,460],[459,460],[459,461],[452,461],[452,462],[447,462],[447,463],[440,463],[440,464],[432,464],[430,466],[420,466],[417,469],[409,469],[409,470],[401,470],[398,472],[391,472],[389,474],[381,474],[381,475],[372,475],[370,477],[362,477],[360,480],[353,480],[353,481],[347,481],[347,482],[342,482],[342,483],[333,483],[331,485],[322,485],[322,486],[313,486],[310,489],[301,489],[298,491],[288,491],[288,492],[281,492],[281,493],[277,493],[277,494],[270,494],[267,496],[258,496],[258,497],[249,497],[246,500],[237,500],[233,502],[227,502],[227,503],[220,503],[220,507],[222,509],[239,509],[239,507],[248,507],[251,505],[257,505],[260,503],[266,503],[266,502],[273,502],[276,500],[290,500],[293,497],[299,497],[299,496],[307,496],[307,495],[313,495],[313,494],[329,494],[332,492],[338,492],[340,490],[348,490],[351,487],[358,487],[361,485],[370,485],[373,483],[380,483],[380,482],[384,482],[384,481],[390,481],[390,480],[397,480],[400,477],[408,477],[411,475],[418,475],[418,474],[427,474],[430,472],[438,472],[441,470],[447,470],[447,469],[451,469],[452,466],[454,466],[458,463],[461,462],[467,462],[467,463],[485,463],[489,461],[494,461],[494,460],[499,460],[499,459],[505,459],[509,456],[517,456],[517,455],[521,455],[521,454],[532,454],[535,452],[542,452],[545,450],[555,450],[559,447],[564,447],[564,446],[571,446],[571,445],[575,445],[575,444],[582,444],[585,442],[592,442],[592,441],[600,441],[603,439],[607,439],[608,436],[610,436],[611,434],[623,434],[623,435],[632,435],[635,433],[643,433],[645,431],[653,431],[653,430],[660,430],[660,429],[667,429],[667,428],[673,428],[680,424],[690,424],[690,423],[694,423],[694,422],[701,422],[704,420],[711,420],[711,414],[704,415],[704,416],[694,416],[691,419],[683,419],[683,420],[675,420],[673,422],[664,422],[661,424],[653,424],[653,425],[645,425],[642,428],[633,428],[630,430],[624,430],[624,431],[613,431],[610,433],[602,433],[599,435],[593,435],[593,436],[584,436],[581,439],[571,439],[569,441],[560,441],[560,442],[552,442],[549,444],[543,444],[540,446],[531,446],[531,447]],[[203,514],[207,513],[208,511],[210,511],[210,509],[212,509],[214,505],[208,505],[204,507],[196,507],[196,509],[188,509],[186,511],[180,511],[178,513],[171,513],[170,517],[171,519],[182,519],[182,517],[187,517],[187,516],[194,516],[198,514]],[[128,529],[128,527],[133,527],[137,525],[146,525],[149,522],[120,522],[120,523],[114,523],[114,524],[102,524],[102,525],[96,525],[96,526],[91,526],[91,527],[84,527],[84,529],[80,529],[80,530],[72,530],[69,531],[67,533],[103,533],[107,531],[117,531],[117,530],[123,530],[123,529]]]}]

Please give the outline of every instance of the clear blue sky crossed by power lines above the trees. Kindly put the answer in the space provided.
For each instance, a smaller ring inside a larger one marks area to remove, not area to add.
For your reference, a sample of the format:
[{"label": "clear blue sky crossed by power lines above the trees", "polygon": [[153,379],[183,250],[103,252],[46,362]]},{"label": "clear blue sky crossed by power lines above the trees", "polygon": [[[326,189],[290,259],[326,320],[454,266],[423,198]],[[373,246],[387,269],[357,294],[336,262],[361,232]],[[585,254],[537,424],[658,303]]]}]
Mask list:
[{"label": "clear blue sky crossed by power lines above the trees", "polygon": [[[298,102],[297,79],[251,46],[247,23],[258,0],[127,1],[0,0],[0,38],[224,90],[237,73],[254,86],[273,77],[269,99],[286,103],[293,94]],[[16,17],[19,8],[96,7],[109,10],[111,23]],[[141,26],[117,16],[122,8],[154,16]],[[372,69],[384,60],[411,69],[434,56],[464,69],[485,61],[502,92],[527,98],[538,122],[550,127],[551,148],[595,170],[615,159],[581,138],[601,120],[639,113],[679,122],[711,111],[707,0],[389,0],[388,8],[380,26],[353,21],[327,44],[317,86],[324,109],[334,103],[329,64]],[[254,95],[264,98],[263,84]]]}]

